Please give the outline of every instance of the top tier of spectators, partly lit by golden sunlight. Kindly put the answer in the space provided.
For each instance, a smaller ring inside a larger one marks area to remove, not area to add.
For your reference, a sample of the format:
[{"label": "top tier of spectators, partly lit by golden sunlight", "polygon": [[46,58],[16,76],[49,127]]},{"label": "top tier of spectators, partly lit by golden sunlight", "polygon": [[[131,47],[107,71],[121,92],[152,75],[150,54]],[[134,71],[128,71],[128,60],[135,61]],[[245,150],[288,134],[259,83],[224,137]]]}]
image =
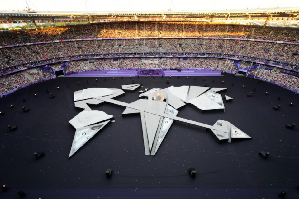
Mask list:
[{"label": "top tier of spectators, partly lit by golden sunlight", "polygon": [[118,22],[7,33],[0,37],[0,46],[61,39],[119,37],[235,37],[299,41],[297,30],[270,27],[262,29],[262,27],[201,22]]}]

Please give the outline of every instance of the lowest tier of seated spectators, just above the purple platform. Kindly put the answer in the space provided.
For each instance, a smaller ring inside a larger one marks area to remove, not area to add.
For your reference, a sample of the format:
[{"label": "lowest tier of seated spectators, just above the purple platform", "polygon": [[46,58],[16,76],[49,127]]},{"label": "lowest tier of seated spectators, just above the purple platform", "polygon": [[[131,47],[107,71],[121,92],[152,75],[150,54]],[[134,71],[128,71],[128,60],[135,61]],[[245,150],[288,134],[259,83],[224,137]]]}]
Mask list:
[{"label": "lowest tier of seated spectators, just above the purple platform", "polygon": [[[243,68],[250,68],[250,62],[241,62]],[[60,66],[55,65],[54,68],[59,69]],[[264,66],[266,67],[266,66]],[[249,74],[254,74],[261,78],[271,79],[275,82],[290,86],[291,88],[298,88],[299,78],[290,74],[281,73],[276,70],[266,70],[264,67],[258,70],[249,71]],[[65,72],[82,72],[86,70],[107,70],[107,69],[130,69],[136,68],[144,70],[146,68],[200,68],[209,70],[225,70],[226,72],[236,73],[237,67],[232,60],[217,59],[217,58],[116,58],[116,59],[90,59],[85,61],[70,61],[65,69]],[[53,71],[45,71],[41,68],[37,70],[27,69],[22,72],[17,72],[12,75],[0,76],[0,94],[6,93],[14,88],[21,87],[30,83],[23,73],[30,75],[35,81],[42,79],[38,70],[40,70],[44,79],[55,77]]]}]

